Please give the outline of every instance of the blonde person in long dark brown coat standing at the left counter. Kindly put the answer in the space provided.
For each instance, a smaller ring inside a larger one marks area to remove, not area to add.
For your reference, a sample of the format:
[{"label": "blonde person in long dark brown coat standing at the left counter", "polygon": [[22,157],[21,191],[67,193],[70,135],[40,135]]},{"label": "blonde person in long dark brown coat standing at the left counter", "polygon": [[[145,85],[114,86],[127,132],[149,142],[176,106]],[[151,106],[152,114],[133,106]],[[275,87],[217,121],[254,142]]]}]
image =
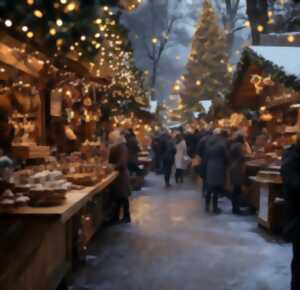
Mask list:
[{"label": "blonde person in long dark brown coat standing at the left counter", "polygon": [[124,216],[121,221],[130,223],[131,217],[129,196],[131,195],[131,190],[128,171],[128,148],[126,145],[126,140],[118,130],[115,130],[110,133],[109,141],[111,144],[109,162],[113,164],[115,169],[119,172],[118,177],[111,185],[113,199],[115,202],[113,221],[119,221],[121,209],[123,209]]}]

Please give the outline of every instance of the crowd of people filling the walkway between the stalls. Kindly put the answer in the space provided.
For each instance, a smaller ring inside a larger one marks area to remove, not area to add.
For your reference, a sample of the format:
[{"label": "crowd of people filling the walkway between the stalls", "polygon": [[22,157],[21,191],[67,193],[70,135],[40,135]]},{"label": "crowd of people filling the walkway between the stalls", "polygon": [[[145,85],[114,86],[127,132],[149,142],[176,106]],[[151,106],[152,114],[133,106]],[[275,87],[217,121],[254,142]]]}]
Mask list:
[{"label": "crowd of people filling the walkway between the stalls", "polygon": [[191,160],[199,160],[195,170],[202,178],[205,209],[208,212],[212,207],[216,214],[221,212],[219,196],[228,194],[225,190],[228,180],[232,188],[232,211],[234,214],[240,213],[239,196],[246,180],[247,148],[238,130],[229,134],[219,128],[194,133],[184,133],[183,130],[163,132],[155,135],[152,142],[155,171],[164,174],[166,187],[170,187],[173,168],[175,182],[182,183]]}]

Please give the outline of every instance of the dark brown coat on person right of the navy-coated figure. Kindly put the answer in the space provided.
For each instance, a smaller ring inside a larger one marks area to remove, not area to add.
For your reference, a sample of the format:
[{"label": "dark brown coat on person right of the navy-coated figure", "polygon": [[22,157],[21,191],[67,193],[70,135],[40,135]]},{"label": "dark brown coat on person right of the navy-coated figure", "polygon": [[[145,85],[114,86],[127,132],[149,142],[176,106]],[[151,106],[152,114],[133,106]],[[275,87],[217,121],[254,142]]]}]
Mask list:
[{"label": "dark brown coat on person right of the navy-coated figure", "polygon": [[229,149],[229,177],[233,186],[242,186],[245,182],[245,156],[243,144],[234,142]]}]

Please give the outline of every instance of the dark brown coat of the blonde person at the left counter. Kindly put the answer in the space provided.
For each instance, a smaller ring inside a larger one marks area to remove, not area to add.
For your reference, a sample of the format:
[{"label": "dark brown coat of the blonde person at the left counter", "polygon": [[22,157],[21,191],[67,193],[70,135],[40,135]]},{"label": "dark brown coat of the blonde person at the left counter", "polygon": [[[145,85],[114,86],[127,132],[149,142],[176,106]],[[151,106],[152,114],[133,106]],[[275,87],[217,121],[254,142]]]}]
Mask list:
[{"label": "dark brown coat of the blonde person at the left counter", "polygon": [[109,153],[109,162],[115,166],[119,175],[111,185],[116,198],[128,197],[131,194],[128,172],[128,149],[125,143],[113,146]]}]

